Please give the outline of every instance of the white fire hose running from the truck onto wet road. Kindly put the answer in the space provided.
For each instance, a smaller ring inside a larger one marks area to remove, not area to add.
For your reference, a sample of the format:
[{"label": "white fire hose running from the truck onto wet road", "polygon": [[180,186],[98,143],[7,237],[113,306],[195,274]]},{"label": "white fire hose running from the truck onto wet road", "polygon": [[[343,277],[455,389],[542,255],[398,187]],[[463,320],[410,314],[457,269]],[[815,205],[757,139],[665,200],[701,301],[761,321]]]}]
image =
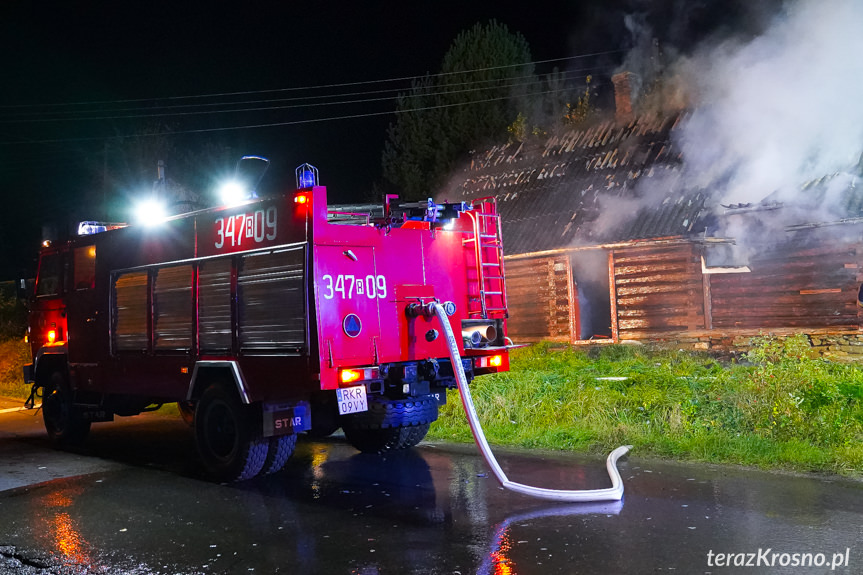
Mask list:
[{"label": "white fire hose running from the truck onto wet road", "polygon": [[479,447],[482,456],[485,458],[488,466],[491,467],[494,476],[500,484],[505,489],[515,491],[516,493],[522,493],[524,495],[530,495],[531,497],[538,497],[540,499],[550,499],[552,501],[620,501],[623,498],[623,481],[620,479],[620,472],[617,471],[617,460],[626,455],[626,453],[632,448],[631,445],[623,445],[608,454],[608,458],[605,460],[605,468],[608,471],[609,478],[611,478],[611,487],[605,489],[546,489],[543,487],[531,487],[530,485],[515,483],[507,478],[506,474],[504,474],[503,470],[500,468],[500,465],[498,465],[494,454],[491,452],[488,441],[485,439],[485,433],[483,433],[482,427],[480,427],[479,419],[476,415],[476,409],[474,409],[473,406],[473,399],[471,398],[470,390],[468,389],[467,377],[465,377],[464,374],[464,366],[462,366],[461,356],[458,352],[458,344],[453,335],[452,327],[449,324],[449,318],[447,317],[446,311],[439,303],[432,303],[429,305],[434,307],[438,322],[440,322],[444,335],[446,335],[447,347],[449,348],[453,371],[455,372],[456,382],[458,383],[458,392],[461,396],[461,402],[464,406],[468,423],[470,424],[470,430],[473,432],[473,437],[476,441],[477,447]]}]

